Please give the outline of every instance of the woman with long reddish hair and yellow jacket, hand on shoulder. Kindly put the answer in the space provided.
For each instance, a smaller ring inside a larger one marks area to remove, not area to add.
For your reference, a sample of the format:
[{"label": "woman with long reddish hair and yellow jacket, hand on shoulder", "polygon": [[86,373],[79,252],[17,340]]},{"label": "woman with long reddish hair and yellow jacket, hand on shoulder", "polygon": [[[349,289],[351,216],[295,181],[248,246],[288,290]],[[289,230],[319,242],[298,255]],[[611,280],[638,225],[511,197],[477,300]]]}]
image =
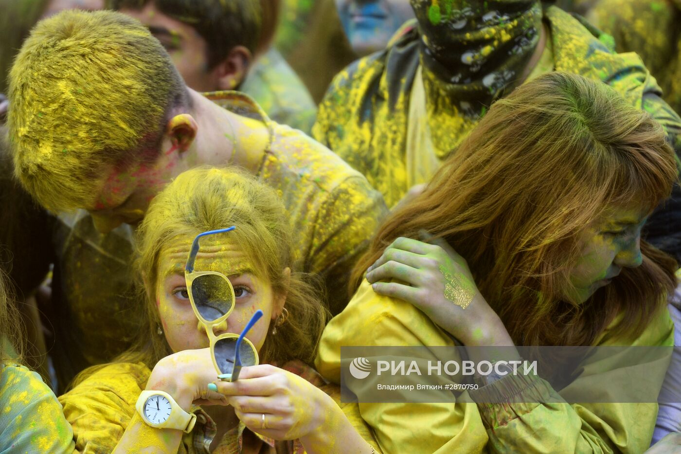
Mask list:
[{"label": "woman with long reddish hair and yellow jacket, hand on shoulder", "polygon": [[[319,372],[340,380],[340,346],[462,344],[473,361],[478,346],[672,346],[676,263],[641,230],[675,180],[660,125],[612,89],[559,72],[528,82],[381,226],[355,296],[323,333]],[[470,399],[360,412],[386,453],[639,454],[657,404],[608,396],[638,376],[654,399],[668,364],[623,368],[624,385],[590,364],[556,389],[542,369],[501,370],[471,384]],[[567,403],[587,391],[611,403]]]}]

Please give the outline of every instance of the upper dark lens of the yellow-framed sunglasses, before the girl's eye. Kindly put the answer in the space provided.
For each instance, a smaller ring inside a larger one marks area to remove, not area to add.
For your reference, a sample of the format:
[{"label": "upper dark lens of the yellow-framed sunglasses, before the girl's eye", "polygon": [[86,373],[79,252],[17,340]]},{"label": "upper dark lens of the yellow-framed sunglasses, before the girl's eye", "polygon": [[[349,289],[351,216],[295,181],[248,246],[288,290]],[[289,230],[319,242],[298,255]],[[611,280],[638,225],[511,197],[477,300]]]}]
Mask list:
[{"label": "upper dark lens of the yellow-framed sunglasses, before the girl's eye", "polygon": [[232,284],[219,275],[197,276],[191,283],[191,293],[197,311],[208,322],[227,314],[234,305]]}]

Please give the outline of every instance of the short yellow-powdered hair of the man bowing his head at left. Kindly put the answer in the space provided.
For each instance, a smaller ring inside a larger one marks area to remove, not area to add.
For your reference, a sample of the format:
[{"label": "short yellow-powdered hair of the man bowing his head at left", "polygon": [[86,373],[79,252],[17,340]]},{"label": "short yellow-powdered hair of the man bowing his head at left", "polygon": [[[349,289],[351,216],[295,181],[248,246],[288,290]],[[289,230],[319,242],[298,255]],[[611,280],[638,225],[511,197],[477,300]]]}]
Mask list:
[{"label": "short yellow-powdered hair of the man bowing his head at left", "polygon": [[16,175],[53,211],[92,202],[106,169],[155,160],[173,109],[189,105],[158,40],[108,11],[39,22],[16,57],[9,97]]}]

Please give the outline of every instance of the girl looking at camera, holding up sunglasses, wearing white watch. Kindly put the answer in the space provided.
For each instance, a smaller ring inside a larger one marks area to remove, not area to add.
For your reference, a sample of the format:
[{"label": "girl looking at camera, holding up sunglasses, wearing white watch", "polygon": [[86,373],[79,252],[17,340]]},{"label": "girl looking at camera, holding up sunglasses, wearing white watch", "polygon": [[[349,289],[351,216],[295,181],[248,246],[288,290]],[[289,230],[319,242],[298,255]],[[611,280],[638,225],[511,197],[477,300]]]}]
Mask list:
[{"label": "girl looking at camera, holding up sunglasses, wearing white watch", "polygon": [[[326,312],[290,271],[274,190],[236,170],[189,170],[151,202],[138,249],[146,329],[133,351],[87,369],[60,397],[76,450],[375,452],[356,407],[341,409],[309,366]],[[238,380],[219,380],[225,363],[236,375],[233,341],[258,311]]]}]

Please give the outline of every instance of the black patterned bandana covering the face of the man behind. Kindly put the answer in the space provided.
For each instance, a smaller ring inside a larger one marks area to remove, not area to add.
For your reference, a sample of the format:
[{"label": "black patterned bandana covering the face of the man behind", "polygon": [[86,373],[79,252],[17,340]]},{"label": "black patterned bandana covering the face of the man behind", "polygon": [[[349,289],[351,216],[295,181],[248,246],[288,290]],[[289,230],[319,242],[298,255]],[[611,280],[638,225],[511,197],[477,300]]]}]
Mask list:
[{"label": "black patterned bandana covering the face of the man behind", "polygon": [[531,0],[411,0],[419,19],[422,62],[460,110],[479,115],[515,87],[541,27],[541,4]]}]

